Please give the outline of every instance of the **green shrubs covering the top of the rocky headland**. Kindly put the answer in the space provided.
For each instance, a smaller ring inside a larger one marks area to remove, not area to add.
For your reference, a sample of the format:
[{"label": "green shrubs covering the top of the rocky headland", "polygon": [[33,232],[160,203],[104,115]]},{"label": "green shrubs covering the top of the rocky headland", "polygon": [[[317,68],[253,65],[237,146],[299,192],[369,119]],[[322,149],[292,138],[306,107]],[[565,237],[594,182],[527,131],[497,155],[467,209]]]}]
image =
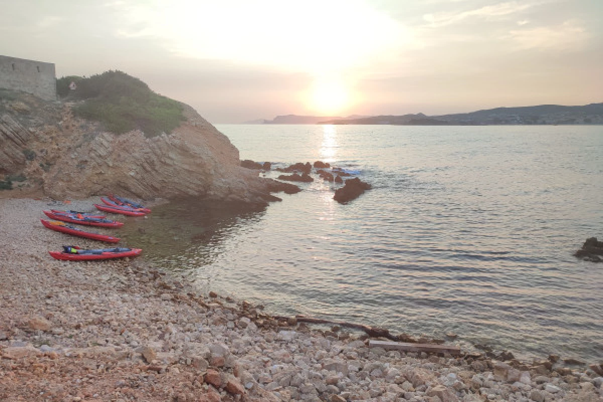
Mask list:
[{"label": "green shrubs covering the top of the rocky headland", "polygon": [[[77,89],[69,89],[74,82]],[[116,134],[139,129],[147,137],[171,133],[185,118],[182,104],[153,92],[138,78],[121,71],[106,71],[92,77],[68,76],[57,80],[57,93],[83,99],[74,113],[102,122]]]}]

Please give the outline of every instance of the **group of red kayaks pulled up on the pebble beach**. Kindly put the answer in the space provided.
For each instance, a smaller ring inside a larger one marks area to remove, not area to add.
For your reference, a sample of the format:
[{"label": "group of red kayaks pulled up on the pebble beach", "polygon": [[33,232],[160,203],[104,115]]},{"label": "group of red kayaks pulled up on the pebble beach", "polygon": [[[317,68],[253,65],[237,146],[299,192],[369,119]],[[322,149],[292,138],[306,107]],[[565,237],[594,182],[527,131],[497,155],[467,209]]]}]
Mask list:
[{"label": "group of red kayaks pulled up on the pebble beach", "polygon": [[[94,204],[94,206],[96,209],[103,212],[119,213],[126,216],[145,216],[147,213],[151,212],[150,209],[120,196],[109,195],[107,198],[101,197],[101,201],[103,201],[103,205]],[[62,211],[55,209],[43,212],[48,218],[52,219],[52,221],[47,221],[46,219],[40,219],[40,221],[42,221],[42,225],[51,230],[107,243],[118,243],[119,238],[84,230],[83,228],[75,227],[70,224],[102,228],[118,228],[124,225],[123,222],[107,219],[107,216],[105,215],[96,215],[95,213],[89,212],[72,210]],[[77,246],[63,246],[63,251],[51,251],[50,255],[57,260],[89,261],[136,257],[139,256],[141,252],[142,250],[140,248],[115,247],[83,250]]]}]

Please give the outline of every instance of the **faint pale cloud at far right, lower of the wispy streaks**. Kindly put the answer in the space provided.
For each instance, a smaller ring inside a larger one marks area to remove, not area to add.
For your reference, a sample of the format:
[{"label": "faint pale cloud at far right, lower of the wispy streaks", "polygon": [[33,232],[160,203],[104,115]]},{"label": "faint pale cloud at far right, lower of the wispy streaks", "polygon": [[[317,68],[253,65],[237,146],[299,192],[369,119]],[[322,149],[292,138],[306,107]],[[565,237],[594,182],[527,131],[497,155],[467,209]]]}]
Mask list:
[{"label": "faint pale cloud at far right, lower of the wispy streaks", "polygon": [[513,40],[520,49],[575,49],[589,37],[581,21],[571,19],[561,25],[513,30],[504,39]]}]

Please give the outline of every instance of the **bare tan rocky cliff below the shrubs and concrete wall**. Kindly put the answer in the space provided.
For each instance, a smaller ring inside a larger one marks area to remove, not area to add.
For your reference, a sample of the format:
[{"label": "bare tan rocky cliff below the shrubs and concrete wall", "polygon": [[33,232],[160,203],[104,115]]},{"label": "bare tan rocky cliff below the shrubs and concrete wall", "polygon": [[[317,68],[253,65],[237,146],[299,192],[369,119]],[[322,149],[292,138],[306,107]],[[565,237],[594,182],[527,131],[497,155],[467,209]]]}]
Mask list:
[{"label": "bare tan rocky cliff below the shrubs and concrete wall", "polygon": [[74,118],[70,107],[28,95],[0,99],[0,175],[25,175],[28,186],[57,199],[108,192],[143,199],[277,199],[269,193],[273,181],[242,168],[238,149],[191,107],[171,134],[151,138],[139,130],[108,133]]}]

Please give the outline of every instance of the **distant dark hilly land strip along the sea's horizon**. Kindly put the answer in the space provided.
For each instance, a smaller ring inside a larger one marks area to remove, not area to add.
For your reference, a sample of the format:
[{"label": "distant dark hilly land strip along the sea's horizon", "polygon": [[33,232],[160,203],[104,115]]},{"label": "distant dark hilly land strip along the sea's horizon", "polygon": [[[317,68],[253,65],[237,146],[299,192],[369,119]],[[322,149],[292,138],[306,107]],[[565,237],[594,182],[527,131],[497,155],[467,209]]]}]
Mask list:
[{"label": "distant dark hilly land strip along the sea's horizon", "polygon": [[527,125],[527,124],[603,124],[603,103],[582,106],[537,105],[497,107],[493,109],[427,116],[408,115],[348,116],[277,116],[273,120],[256,120],[247,124],[389,124],[389,125]]}]

